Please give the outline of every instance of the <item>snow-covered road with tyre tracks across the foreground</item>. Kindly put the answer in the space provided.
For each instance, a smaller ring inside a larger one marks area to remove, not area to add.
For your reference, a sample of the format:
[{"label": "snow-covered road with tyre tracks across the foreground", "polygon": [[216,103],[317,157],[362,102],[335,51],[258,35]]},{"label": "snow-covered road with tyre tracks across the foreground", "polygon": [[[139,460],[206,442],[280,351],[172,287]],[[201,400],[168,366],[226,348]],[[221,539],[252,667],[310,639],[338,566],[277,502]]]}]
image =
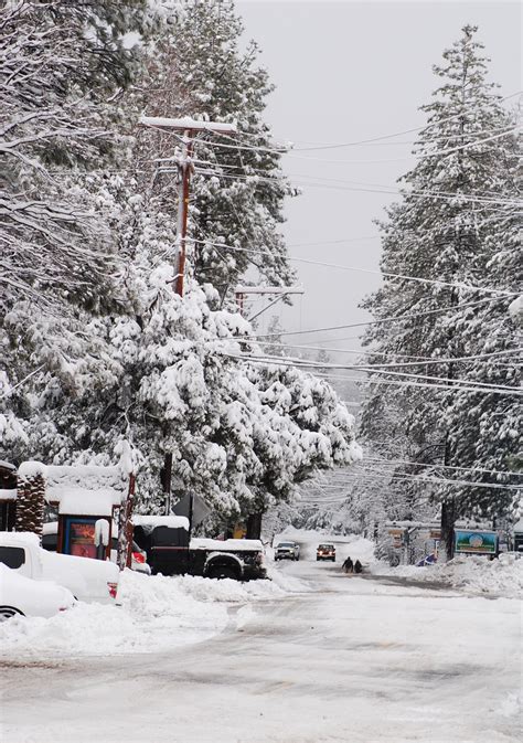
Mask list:
[{"label": "snow-covered road with tyre tracks across the foreground", "polygon": [[310,593],[231,609],[162,655],[10,664],[2,743],[436,743],[520,739],[521,614],[339,564],[278,566]]}]

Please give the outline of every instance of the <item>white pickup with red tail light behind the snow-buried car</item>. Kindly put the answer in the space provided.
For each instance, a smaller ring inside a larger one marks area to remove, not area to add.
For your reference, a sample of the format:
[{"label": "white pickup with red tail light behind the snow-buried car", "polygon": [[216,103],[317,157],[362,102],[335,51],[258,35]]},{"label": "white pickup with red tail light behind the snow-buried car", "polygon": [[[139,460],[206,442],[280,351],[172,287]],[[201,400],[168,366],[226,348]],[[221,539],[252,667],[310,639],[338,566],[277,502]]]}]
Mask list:
[{"label": "white pickup with red tail light behind the snow-buried car", "polygon": [[113,562],[47,552],[36,534],[0,532],[0,562],[25,577],[54,581],[79,601],[107,604],[116,599],[120,573]]}]

